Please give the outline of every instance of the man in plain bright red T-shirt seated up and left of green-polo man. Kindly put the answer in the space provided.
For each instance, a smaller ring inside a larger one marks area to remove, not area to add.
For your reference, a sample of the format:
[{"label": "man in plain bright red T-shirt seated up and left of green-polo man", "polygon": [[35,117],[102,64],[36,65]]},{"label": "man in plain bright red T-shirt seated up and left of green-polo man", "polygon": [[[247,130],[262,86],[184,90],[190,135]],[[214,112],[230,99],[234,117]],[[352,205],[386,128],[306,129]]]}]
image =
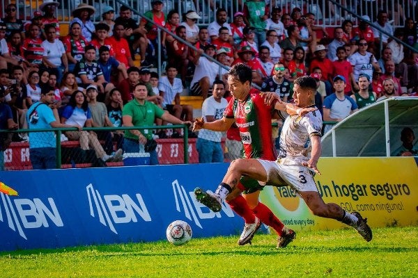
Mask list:
[{"label": "man in plain bright red T-shirt seated up and left of green-polo man", "polygon": [[133,67],[134,61],[132,60],[129,44],[123,38],[124,33],[125,27],[123,24],[116,22],[114,25],[114,34],[107,39],[107,42],[114,50],[116,60],[125,64],[126,67]]}]

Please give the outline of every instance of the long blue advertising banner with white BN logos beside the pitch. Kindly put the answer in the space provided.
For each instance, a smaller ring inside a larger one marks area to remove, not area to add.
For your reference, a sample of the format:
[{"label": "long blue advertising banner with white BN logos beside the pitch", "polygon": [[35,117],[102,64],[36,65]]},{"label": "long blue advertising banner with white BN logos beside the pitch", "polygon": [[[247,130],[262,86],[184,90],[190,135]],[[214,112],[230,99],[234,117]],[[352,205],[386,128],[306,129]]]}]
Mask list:
[{"label": "long blue advertising banner with white BN logos beside the pitch", "polygon": [[0,193],[0,250],[161,240],[174,220],[193,237],[238,235],[244,222],[228,204],[213,213],[193,194],[215,190],[228,165],[1,172],[19,196]]}]

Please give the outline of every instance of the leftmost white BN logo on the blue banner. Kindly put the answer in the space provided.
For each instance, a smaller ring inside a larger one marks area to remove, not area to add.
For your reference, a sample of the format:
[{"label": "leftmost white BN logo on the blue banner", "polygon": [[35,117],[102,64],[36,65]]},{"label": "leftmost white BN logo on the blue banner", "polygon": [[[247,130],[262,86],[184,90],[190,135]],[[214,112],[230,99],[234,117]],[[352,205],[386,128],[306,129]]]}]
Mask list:
[{"label": "leftmost white BN logo on the blue banner", "polygon": [[13,199],[12,202],[8,195],[0,193],[0,196],[0,221],[13,231],[17,230],[26,240],[24,229],[48,228],[49,224],[54,224],[56,227],[64,226],[52,198],[48,198],[47,202],[42,202],[39,198]]}]

